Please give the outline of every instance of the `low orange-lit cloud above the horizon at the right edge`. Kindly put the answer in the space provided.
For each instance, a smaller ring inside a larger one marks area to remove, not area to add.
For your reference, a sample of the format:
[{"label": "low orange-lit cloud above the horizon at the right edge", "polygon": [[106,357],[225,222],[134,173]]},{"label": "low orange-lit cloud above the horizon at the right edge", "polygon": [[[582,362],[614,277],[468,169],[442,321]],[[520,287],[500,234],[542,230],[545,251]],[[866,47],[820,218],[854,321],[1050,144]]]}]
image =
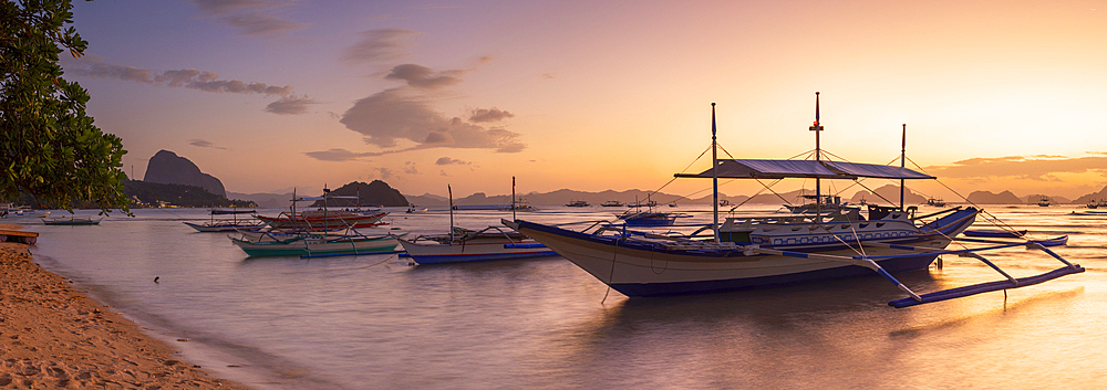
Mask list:
[{"label": "low orange-lit cloud above the horizon at the right edge", "polygon": [[1016,177],[1027,180],[1051,181],[1056,173],[1107,173],[1107,157],[1024,158],[1007,156],[999,158],[971,158],[950,166],[925,167],[925,171],[939,178],[981,179],[989,177]]}]

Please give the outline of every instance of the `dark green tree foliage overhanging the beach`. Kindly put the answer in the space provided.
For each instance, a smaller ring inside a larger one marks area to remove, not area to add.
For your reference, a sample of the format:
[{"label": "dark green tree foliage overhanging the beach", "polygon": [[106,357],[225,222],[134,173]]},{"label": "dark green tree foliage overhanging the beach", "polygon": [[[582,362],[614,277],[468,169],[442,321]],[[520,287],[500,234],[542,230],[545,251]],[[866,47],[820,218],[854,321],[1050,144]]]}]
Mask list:
[{"label": "dark green tree foliage overhanging the beach", "polygon": [[85,114],[89,92],[62,78],[59,54],[89,43],[72,23],[70,0],[0,0],[0,198],[30,193],[39,207],[127,210],[123,139]]}]

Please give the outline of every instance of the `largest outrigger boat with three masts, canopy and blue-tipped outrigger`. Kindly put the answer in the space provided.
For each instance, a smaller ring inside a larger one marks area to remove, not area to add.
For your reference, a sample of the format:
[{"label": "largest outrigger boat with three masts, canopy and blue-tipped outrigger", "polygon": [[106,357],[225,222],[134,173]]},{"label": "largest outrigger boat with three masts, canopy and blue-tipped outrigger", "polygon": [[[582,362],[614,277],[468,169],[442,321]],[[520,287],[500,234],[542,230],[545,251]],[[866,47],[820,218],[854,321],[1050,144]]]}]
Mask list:
[{"label": "largest outrigger boat with three masts, canopy and blue-tipped outrigger", "polygon": [[[915,180],[934,177],[904,167],[824,160],[819,150],[818,93],[816,93],[816,149],[814,160],[718,159],[715,141],[715,110],[712,104],[713,167],[697,175],[676,177],[711,178],[714,204],[718,204],[718,178],[819,180],[882,178]],[[904,125],[904,135],[907,125]],[[906,138],[906,137],[904,137]],[[906,143],[904,143],[906,146]],[[907,307],[970,296],[991,291],[1025,287],[1036,283],[1084,272],[1039,242],[997,242],[972,240],[989,246],[948,250],[954,238],[969,228],[981,210],[955,207],[922,217],[900,207],[868,205],[868,218],[859,208],[839,209],[830,214],[788,217],[732,217],[685,235],[655,234],[632,230],[625,224],[597,223],[583,231],[524,220],[503,223],[554,249],[611,288],[630,297],[710,293],[806,283],[819,280],[861,276],[876,272],[909,296],[889,303]],[[592,228],[594,231],[589,232]],[[711,231],[710,239],[700,233]],[[985,250],[1013,246],[1041,250],[1065,264],[1055,271],[1015,278],[980,255]],[[900,283],[893,273],[927,270],[942,254],[964,254],[981,260],[1006,280],[961,288],[917,294]]]}]

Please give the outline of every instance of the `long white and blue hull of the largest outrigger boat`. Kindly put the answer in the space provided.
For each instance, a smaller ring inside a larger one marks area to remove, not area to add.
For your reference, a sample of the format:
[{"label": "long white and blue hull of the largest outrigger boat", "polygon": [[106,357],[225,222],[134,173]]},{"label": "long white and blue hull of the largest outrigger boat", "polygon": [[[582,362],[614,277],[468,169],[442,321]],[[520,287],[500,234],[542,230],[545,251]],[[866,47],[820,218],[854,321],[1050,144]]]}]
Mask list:
[{"label": "long white and blue hull of the largest outrigger boat", "polygon": [[[950,236],[972,224],[971,218],[959,218],[956,222],[943,225],[943,231],[953,234],[919,234],[882,239],[880,242],[944,249],[951,241]],[[508,225],[549,246],[627,296],[713,293],[876,275],[872,270],[848,263],[745,253],[737,245],[730,250],[720,250],[717,246],[714,250],[666,249],[656,243],[586,234],[526,221],[508,222]],[[841,244],[786,246],[790,252],[845,257],[857,255],[857,252]],[[865,253],[869,256],[907,254],[878,261],[888,272],[925,270],[937,257],[933,254],[890,247],[866,246]]]}]

